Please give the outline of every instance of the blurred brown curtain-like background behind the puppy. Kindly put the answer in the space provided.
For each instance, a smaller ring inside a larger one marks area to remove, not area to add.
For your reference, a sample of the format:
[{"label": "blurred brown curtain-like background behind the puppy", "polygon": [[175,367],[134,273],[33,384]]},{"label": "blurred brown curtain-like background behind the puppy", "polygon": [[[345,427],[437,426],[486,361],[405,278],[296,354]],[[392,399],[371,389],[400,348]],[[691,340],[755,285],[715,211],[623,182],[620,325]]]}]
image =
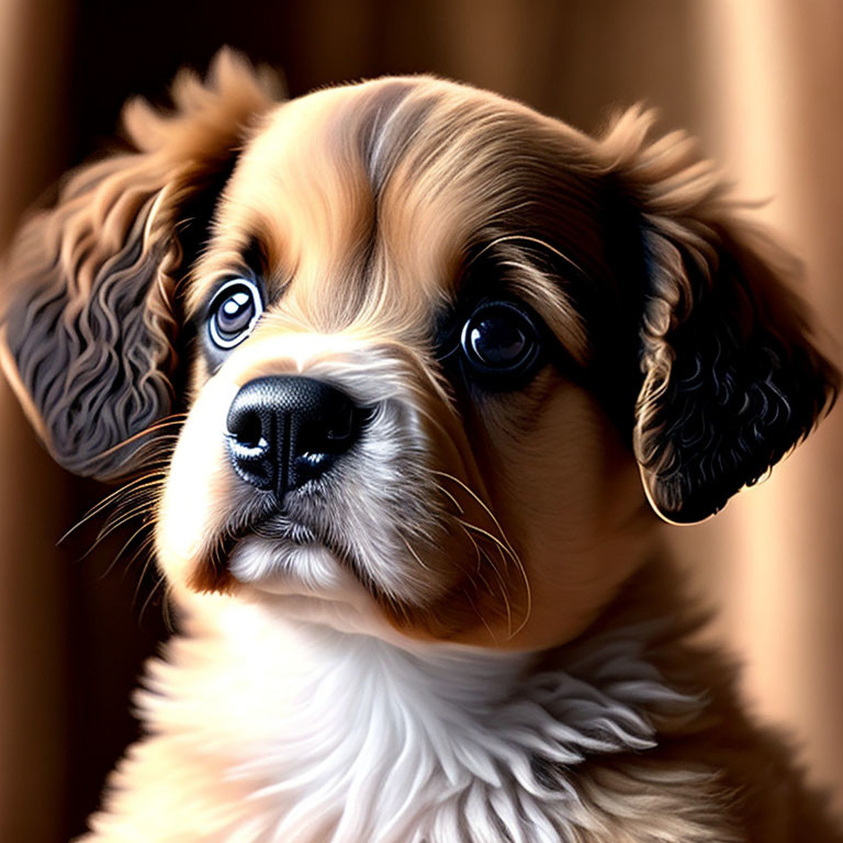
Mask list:
[{"label": "blurred brown curtain-like background behind the puppy", "polygon": [[[610,106],[661,108],[726,166],[807,265],[835,350],[843,326],[841,0],[0,0],[0,238],[112,134],[130,93],[164,100],[182,64],[232,44],[293,95],[432,71],[585,130]],[[798,737],[843,808],[843,413],[715,521],[671,531],[712,634],[746,663],[761,716]],[[127,695],[166,633],[126,535],[60,535],[108,490],[52,465],[0,393],[0,840],[83,828],[134,733]],[[110,569],[111,566],[111,569]],[[109,570],[110,569],[110,570]],[[140,585],[138,585],[138,582]]]}]

